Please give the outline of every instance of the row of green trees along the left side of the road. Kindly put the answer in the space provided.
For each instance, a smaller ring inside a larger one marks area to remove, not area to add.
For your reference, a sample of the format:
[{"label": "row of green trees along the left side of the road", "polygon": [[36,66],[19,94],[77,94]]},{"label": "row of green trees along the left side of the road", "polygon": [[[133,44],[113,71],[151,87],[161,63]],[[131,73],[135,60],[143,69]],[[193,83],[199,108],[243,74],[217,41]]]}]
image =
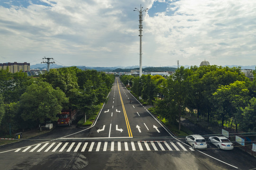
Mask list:
[{"label": "row of green trees along the left side of the road", "polygon": [[106,101],[114,75],[76,67],[51,69],[40,77],[0,70],[0,134],[34,128],[57,120],[62,109],[78,109],[87,117]]}]

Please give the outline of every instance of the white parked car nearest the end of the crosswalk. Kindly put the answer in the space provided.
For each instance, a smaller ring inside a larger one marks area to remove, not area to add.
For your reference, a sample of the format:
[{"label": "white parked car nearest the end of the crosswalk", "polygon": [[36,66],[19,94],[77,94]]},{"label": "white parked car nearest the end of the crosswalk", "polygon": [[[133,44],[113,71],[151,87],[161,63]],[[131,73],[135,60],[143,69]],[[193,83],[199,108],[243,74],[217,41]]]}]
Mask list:
[{"label": "white parked car nearest the end of the crosswalk", "polygon": [[190,135],[186,136],[186,142],[190,144],[193,149],[206,149],[206,140],[201,135]]}]

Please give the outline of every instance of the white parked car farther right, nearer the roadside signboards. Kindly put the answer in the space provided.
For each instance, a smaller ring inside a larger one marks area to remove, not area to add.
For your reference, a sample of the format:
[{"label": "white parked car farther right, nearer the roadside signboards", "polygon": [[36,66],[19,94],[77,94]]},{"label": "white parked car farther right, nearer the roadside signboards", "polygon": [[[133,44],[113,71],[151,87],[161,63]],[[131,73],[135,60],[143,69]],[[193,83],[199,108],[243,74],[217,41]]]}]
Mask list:
[{"label": "white parked car farther right, nearer the roadside signboards", "polygon": [[221,149],[225,149],[225,150],[234,149],[234,144],[232,144],[230,140],[225,136],[211,136],[209,137],[209,141]]}]

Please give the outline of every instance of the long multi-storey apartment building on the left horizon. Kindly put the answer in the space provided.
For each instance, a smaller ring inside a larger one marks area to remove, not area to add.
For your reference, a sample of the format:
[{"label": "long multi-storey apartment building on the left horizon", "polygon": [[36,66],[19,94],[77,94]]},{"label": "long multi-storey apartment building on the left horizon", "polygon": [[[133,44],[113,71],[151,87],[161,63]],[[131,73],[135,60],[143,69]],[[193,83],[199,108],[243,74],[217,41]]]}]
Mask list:
[{"label": "long multi-storey apartment building on the left horizon", "polygon": [[10,73],[16,73],[22,70],[23,72],[30,71],[30,63],[0,63],[0,69],[6,69],[9,68]]}]

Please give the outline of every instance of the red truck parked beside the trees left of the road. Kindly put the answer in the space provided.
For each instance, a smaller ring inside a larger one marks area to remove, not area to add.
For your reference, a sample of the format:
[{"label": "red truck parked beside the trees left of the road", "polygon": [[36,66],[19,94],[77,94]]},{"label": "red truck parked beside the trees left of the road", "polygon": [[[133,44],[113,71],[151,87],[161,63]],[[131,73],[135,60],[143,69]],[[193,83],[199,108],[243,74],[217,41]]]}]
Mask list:
[{"label": "red truck parked beside the trees left of the road", "polygon": [[58,114],[58,126],[62,125],[68,125],[70,126],[72,124],[72,121],[76,119],[76,110],[62,110],[61,114]]}]

